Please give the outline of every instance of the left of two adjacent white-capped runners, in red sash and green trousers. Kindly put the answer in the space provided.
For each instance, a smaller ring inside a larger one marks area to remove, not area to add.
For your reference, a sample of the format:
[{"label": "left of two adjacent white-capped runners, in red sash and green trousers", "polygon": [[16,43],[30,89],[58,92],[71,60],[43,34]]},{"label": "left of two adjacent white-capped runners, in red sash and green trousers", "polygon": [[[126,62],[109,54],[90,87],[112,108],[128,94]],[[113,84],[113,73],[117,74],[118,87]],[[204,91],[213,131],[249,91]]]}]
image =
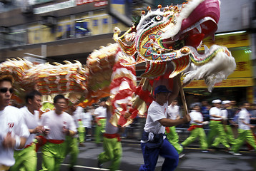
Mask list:
[{"label": "left of two adjacent white-capped runners, in red sash and green trousers", "polygon": [[[227,143],[227,137],[225,134],[225,130],[222,125],[222,119],[225,119],[222,115],[222,111],[220,110],[222,100],[216,99],[212,100],[212,103],[215,107],[210,108],[210,133],[208,134],[207,144],[208,147],[217,147],[217,145],[221,142],[227,149],[230,148],[230,145]],[[213,138],[215,136],[219,136],[220,142],[215,142],[212,144]]]}]

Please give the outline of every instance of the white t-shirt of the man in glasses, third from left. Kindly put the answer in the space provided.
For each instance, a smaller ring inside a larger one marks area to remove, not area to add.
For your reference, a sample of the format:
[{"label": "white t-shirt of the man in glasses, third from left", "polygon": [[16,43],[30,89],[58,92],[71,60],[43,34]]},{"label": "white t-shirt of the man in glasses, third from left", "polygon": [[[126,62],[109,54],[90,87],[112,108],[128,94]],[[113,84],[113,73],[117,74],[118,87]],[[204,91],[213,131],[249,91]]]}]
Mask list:
[{"label": "white t-shirt of the man in glasses, third from left", "polygon": [[48,126],[50,133],[46,135],[47,140],[65,140],[63,128],[69,129],[77,133],[77,127],[74,119],[68,113],[57,115],[55,110],[51,110],[41,115],[41,125]]}]

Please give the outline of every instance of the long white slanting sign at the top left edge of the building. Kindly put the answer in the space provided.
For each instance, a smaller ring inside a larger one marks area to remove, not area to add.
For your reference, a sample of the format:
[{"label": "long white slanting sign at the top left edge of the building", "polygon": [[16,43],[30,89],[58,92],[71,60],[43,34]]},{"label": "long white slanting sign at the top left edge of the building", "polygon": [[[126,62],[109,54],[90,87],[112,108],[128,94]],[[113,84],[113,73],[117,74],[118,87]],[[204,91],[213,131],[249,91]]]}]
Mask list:
[{"label": "long white slanting sign at the top left edge of the building", "polygon": [[52,4],[49,6],[41,6],[39,8],[34,9],[34,14],[44,14],[47,12],[57,11],[60,9],[67,9],[74,6],[77,6],[76,0],[69,0],[57,4]]}]

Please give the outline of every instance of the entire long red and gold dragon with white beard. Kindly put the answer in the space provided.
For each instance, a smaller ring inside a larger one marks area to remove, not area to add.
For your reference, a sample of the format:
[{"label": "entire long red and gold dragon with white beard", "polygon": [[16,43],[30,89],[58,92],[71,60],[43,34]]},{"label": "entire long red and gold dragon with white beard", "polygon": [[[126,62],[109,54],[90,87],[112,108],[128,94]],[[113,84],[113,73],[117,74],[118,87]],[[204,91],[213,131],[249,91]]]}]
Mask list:
[{"label": "entire long red and gold dragon with white beard", "polygon": [[[109,96],[114,109],[112,123],[126,126],[138,113],[147,112],[159,84],[173,90],[177,86],[174,78],[182,74],[183,86],[204,79],[211,91],[215,83],[235,70],[235,58],[224,46],[205,46],[204,53],[197,52],[204,38],[214,38],[220,1],[190,0],[181,6],[159,5],[155,11],[150,7],[147,10],[147,14],[142,11],[139,24],[122,36],[115,28],[117,43],[92,52],[86,66],[79,61],[34,66],[13,59],[0,64],[1,74],[14,76],[17,97],[37,88],[46,95],[45,100],[51,100],[52,94],[66,93],[77,104],[87,106]],[[137,86],[138,63],[145,63],[147,69]]]}]

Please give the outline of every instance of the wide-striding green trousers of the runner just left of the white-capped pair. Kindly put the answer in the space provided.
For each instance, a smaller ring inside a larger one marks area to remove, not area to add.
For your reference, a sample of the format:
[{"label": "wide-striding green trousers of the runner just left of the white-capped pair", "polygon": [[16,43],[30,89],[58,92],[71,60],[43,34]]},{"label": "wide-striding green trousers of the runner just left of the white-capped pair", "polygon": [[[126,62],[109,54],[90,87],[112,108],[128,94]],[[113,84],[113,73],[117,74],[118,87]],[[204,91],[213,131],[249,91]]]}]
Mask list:
[{"label": "wide-striding green trousers of the runner just left of the white-capped pair", "polygon": [[183,147],[187,147],[191,142],[195,141],[197,138],[200,140],[201,149],[207,150],[208,145],[206,141],[206,135],[204,128],[195,128],[191,131],[189,137],[182,142]]}]

